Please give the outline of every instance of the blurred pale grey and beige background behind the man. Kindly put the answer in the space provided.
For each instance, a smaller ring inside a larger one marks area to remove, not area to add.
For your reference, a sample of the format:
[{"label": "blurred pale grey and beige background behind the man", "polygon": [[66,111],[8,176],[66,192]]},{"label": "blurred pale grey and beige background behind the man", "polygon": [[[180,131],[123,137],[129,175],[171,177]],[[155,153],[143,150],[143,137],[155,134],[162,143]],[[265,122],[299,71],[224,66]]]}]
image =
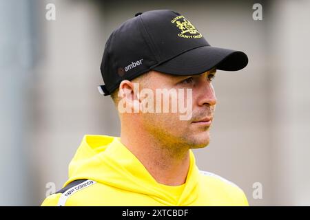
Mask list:
[{"label": "blurred pale grey and beige background behind the man", "polygon": [[156,9],[249,56],[240,72],[218,71],[198,168],[236,183],[251,206],[310,206],[310,1],[0,0],[1,206],[40,205],[49,182],[58,190],[66,181],[83,135],[119,135],[114,104],[97,90],[105,42],[136,12]]}]

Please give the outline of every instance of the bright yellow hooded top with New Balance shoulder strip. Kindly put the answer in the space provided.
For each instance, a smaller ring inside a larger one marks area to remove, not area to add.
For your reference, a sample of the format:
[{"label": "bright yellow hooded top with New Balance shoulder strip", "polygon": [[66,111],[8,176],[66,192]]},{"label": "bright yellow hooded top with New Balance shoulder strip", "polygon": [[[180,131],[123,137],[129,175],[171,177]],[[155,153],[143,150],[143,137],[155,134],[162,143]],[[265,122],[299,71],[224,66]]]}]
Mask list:
[{"label": "bright yellow hooded top with New Balance shoulder strip", "polygon": [[185,184],[167,186],[149,174],[120,137],[84,135],[63,190],[42,206],[249,206],[238,186],[198,170],[194,153],[189,153]]}]

